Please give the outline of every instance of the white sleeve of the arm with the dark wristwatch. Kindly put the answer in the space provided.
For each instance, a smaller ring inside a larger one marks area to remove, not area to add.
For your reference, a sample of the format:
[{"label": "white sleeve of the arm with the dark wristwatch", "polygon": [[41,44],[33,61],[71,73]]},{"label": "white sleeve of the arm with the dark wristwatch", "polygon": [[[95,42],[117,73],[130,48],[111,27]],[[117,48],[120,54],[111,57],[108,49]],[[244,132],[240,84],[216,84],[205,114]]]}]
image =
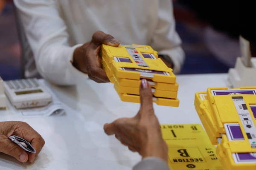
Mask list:
[{"label": "white sleeve of the arm with the dark wristwatch", "polygon": [[175,29],[172,1],[160,0],[157,15],[158,23],[151,46],[158,51],[158,54],[171,57],[174,64],[173,72],[177,74],[184,63],[185,53],[181,48],[181,40]]}]

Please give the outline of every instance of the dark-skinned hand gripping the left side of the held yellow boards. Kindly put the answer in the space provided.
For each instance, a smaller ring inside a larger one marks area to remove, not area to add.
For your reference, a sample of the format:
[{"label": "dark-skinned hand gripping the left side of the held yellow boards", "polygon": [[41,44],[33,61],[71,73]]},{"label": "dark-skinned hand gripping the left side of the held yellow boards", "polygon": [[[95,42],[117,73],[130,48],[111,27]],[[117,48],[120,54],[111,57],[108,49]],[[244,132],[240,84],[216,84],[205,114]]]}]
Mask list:
[{"label": "dark-skinned hand gripping the left side of the held yellow boards", "polygon": [[96,82],[109,82],[105,71],[102,69],[102,60],[99,56],[102,44],[118,46],[120,41],[102,31],[96,31],[91,41],[76,48],[73,55],[73,65],[78,70],[87,73],[89,78]]}]

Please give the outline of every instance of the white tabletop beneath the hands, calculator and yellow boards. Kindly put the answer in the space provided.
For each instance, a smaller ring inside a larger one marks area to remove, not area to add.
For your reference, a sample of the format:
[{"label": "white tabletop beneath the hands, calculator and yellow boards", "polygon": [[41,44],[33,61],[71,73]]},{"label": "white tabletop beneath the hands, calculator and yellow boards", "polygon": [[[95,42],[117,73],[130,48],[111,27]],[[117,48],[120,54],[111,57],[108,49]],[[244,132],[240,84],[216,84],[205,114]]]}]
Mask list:
[{"label": "white tabletop beneath the hands, calculator and yellow boards", "polygon": [[[209,87],[227,87],[227,74],[177,75],[176,82],[179,107],[154,104],[160,124],[201,124],[194,107],[195,93]],[[103,130],[106,122],[134,116],[140,104],[122,102],[111,83],[87,79],[72,87],[47,85],[64,103],[66,113],[24,117],[11,107],[0,111],[0,121],[27,122],[46,142],[32,164],[0,153],[0,170],[131,170],[140,161],[139,154]]]}]

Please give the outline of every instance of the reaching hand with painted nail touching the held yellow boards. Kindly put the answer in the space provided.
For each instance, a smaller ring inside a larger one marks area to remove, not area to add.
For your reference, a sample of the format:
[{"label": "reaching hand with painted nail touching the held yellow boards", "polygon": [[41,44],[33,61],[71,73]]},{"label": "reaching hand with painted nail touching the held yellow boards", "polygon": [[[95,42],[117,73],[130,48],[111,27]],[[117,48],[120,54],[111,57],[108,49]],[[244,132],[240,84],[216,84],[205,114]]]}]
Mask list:
[{"label": "reaching hand with painted nail touching the held yellow boards", "polygon": [[152,103],[152,92],[143,79],[140,85],[140,110],[132,118],[120,118],[104,125],[105,133],[116,138],[129,150],[140,153],[142,158],[154,156],[167,161],[167,145],[163,140],[160,124]]}]

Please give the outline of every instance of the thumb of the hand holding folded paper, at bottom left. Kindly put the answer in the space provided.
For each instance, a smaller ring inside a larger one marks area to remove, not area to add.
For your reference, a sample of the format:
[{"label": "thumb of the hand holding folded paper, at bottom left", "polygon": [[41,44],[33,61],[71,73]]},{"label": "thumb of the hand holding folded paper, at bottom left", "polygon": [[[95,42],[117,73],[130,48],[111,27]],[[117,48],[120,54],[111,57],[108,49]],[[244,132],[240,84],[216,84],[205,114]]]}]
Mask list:
[{"label": "thumb of the hand holding folded paper, at bottom left", "polygon": [[0,152],[12,156],[20,162],[26,162],[29,158],[25,150],[9,139],[0,142]]}]

